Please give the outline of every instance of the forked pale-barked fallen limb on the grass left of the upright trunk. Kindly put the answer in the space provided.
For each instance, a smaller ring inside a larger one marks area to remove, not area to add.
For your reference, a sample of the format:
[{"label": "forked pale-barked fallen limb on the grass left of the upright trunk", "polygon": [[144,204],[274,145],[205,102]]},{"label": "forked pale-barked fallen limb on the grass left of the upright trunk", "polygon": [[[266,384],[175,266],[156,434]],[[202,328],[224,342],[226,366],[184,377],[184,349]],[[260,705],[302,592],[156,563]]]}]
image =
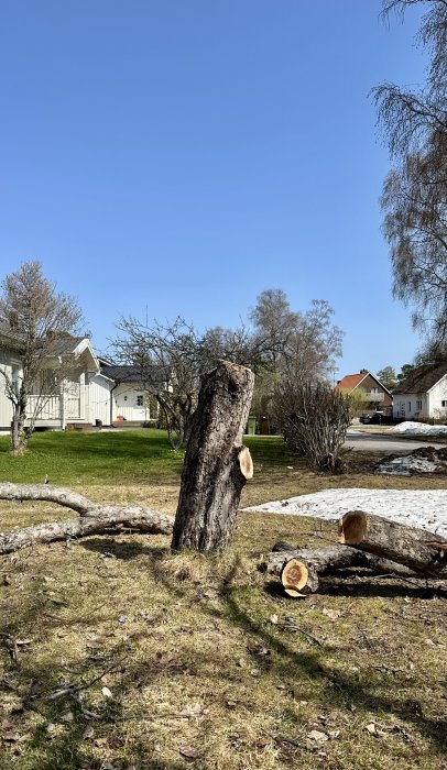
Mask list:
[{"label": "forked pale-barked fallen limb on the grass left of the upright trunk", "polygon": [[171,535],[174,518],[142,506],[101,505],[64,487],[47,484],[0,484],[0,499],[46,501],[72,508],[76,519],[63,519],[0,532],[0,556],[29,546],[105,535],[130,529],[134,532]]}]

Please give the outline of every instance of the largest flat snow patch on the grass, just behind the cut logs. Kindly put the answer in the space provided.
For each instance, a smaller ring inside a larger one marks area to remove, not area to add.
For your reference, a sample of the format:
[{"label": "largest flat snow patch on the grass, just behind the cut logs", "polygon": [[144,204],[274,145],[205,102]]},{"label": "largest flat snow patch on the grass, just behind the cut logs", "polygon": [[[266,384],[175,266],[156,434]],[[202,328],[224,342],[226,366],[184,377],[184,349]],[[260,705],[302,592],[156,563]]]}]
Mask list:
[{"label": "largest flat snow patch on the grass, just behind the cut logs", "polygon": [[364,510],[447,538],[447,490],[324,490],[244,508],[247,512],[338,519]]}]

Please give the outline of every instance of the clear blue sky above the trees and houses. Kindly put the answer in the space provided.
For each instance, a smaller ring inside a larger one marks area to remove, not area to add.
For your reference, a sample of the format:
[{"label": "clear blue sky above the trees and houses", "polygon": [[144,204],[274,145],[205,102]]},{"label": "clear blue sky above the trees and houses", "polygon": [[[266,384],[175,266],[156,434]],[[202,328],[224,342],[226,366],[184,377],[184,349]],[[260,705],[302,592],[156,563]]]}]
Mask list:
[{"label": "clear blue sky above the trees and houses", "polygon": [[339,373],[410,361],[369,90],[417,84],[380,0],[2,0],[0,274],[39,258],[105,350],[120,315],[235,326],[327,299]]}]

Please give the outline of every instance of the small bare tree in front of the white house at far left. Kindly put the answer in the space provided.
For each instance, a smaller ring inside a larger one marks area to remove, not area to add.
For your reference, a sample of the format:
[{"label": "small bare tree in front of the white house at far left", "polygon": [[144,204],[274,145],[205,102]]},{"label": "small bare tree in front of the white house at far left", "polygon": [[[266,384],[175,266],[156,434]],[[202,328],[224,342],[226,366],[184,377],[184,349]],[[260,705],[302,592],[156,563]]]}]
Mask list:
[{"label": "small bare tree in front of the white house at far left", "polygon": [[[11,444],[15,453],[26,449],[34,422],[48,393],[48,377],[43,373],[54,363],[55,340],[77,330],[81,312],[73,297],[56,292],[42,274],[40,262],[25,262],[8,275],[2,284],[0,319],[3,328],[17,340],[20,369],[12,375],[0,366],[6,395],[12,404]],[[51,388],[63,385],[64,362],[56,361]],[[36,383],[39,383],[36,385]],[[28,414],[29,396],[36,389],[32,414]]]}]

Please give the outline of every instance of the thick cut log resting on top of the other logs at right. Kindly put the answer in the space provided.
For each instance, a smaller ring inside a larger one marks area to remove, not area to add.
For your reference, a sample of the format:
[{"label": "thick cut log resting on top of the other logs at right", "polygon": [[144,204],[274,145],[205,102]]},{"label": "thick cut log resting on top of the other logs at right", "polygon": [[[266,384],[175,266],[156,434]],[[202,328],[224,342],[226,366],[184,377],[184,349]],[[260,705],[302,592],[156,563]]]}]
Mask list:
[{"label": "thick cut log resting on top of the other logs at right", "polygon": [[374,553],[427,578],[447,578],[447,542],[434,532],[406,527],[363,510],[350,510],[339,520],[338,541]]}]

